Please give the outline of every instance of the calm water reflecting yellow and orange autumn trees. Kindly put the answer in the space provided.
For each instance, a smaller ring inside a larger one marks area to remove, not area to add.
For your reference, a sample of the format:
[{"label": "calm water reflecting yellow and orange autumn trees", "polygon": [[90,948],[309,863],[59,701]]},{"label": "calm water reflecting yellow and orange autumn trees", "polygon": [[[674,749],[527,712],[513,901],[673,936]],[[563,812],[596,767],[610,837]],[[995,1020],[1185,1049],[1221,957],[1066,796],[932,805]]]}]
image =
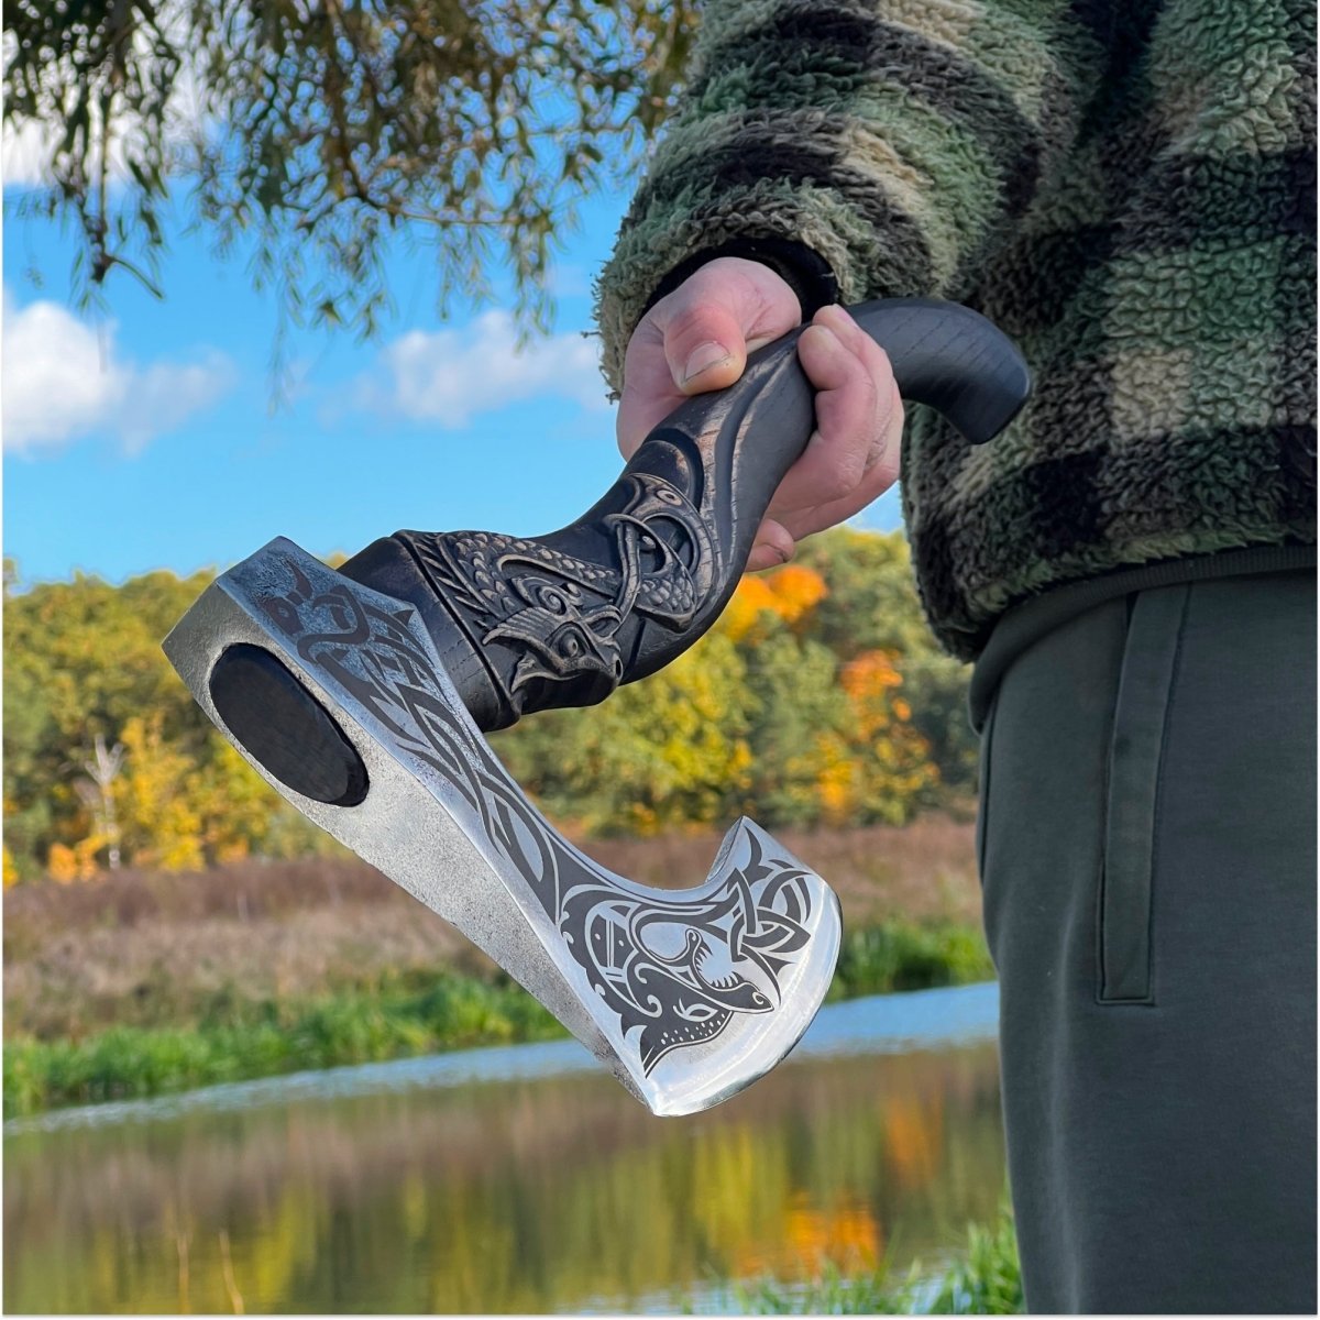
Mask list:
[{"label": "calm water reflecting yellow and orange autumn trees", "polygon": [[7,1312],[673,1312],[994,1220],[993,985],[824,1008],[771,1076],[652,1118],[576,1041],[5,1125]]}]

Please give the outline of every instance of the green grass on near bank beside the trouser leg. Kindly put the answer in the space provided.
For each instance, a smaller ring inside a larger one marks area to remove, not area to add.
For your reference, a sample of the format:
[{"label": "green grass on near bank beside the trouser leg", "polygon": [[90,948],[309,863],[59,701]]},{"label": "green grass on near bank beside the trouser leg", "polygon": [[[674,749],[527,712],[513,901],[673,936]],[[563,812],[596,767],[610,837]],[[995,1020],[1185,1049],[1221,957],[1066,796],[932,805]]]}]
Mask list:
[{"label": "green grass on near bank beside the trouser leg", "polygon": [[869,1274],[836,1271],[807,1284],[774,1279],[735,1284],[742,1315],[1020,1315],[1026,1307],[1018,1234],[1007,1199],[991,1226],[969,1225],[966,1245],[936,1270],[917,1262],[906,1279],[886,1266]]}]

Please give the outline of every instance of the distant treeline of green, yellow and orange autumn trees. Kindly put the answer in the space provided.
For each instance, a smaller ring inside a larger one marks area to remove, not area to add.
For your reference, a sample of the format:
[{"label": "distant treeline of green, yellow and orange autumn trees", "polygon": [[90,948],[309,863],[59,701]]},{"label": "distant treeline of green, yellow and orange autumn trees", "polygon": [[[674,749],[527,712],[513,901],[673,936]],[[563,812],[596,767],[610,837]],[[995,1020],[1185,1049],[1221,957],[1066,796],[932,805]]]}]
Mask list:
[{"label": "distant treeline of green, yellow and orange autumn trees", "polygon": [[[194,705],[161,638],[211,579],[5,565],[4,883],[197,870],[335,845]],[[686,655],[587,710],[492,738],[565,829],[903,824],[974,788],[966,669],[921,619],[902,535],[840,528],[742,581]]]}]

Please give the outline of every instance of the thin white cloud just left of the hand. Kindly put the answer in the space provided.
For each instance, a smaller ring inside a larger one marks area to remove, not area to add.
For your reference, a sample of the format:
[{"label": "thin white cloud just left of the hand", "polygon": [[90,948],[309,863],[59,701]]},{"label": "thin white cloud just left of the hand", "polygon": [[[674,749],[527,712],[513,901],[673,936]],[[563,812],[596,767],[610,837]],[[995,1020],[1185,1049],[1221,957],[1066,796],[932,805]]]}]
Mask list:
[{"label": "thin white cloud just left of the hand", "polygon": [[519,347],[507,312],[484,312],[462,330],[411,330],[380,358],[383,371],[358,381],[358,405],[450,429],[528,399],[609,408],[594,341],[561,334]]}]

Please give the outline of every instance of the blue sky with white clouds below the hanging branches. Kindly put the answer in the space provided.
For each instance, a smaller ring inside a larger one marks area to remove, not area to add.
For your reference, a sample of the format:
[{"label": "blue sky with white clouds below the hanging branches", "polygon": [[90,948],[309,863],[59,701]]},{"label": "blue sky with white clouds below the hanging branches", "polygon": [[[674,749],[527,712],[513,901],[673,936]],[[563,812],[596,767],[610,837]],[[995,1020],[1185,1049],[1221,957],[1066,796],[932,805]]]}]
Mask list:
[{"label": "blue sky with white clouds below the hanging branches", "polygon": [[[15,190],[5,190],[7,203]],[[4,552],[25,582],[223,568],[272,536],[352,553],[396,528],[528,535],[572,521],[614,480],[612,407],[595,367],[591,279],[628,191],[560,239],[552,333],[517,350],[508,281],[441,323],[425,253],[391,263],[379,339],[298,333],[292,397],[272,408],[276,312],[242,260],[172,226],[165,300],[131,277],[91,317],[70,302],[75,238],[4,227]],[[859,519],[898,525],[896,491]]]}]

